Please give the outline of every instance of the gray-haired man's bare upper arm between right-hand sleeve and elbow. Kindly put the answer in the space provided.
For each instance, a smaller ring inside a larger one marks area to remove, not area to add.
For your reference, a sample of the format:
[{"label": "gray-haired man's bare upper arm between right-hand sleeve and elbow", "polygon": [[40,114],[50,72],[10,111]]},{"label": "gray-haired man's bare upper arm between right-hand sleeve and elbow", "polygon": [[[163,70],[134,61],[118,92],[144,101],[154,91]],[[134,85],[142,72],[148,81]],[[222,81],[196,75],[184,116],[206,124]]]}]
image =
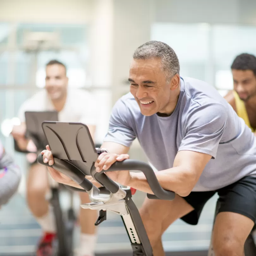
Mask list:
[{"label": "gray-haired man's bare upper arm between right-hand sleeve and elbow", "polygon": [[181,150],[174,159],[173,167],[184,167],[188,172],[195,174],[196,180],[198,180],[211,157],[211,155],[201,152]]}]

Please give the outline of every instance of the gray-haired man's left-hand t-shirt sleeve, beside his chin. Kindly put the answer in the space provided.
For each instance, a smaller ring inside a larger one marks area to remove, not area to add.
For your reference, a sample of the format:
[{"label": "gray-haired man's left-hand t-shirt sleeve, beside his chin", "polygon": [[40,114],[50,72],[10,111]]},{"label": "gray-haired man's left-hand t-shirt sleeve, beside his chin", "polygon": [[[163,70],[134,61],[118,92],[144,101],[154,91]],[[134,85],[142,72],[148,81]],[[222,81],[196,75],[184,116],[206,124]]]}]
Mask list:
[{"label": "gray-haired man's left-hand t-shirt sleeve, beside his chin", "polygon": [[132,129],[132,114],[125,103],[119,99],[114,105],[109,119],[109,127],[104,142],[116,142],[130,147],[136,135]]}]

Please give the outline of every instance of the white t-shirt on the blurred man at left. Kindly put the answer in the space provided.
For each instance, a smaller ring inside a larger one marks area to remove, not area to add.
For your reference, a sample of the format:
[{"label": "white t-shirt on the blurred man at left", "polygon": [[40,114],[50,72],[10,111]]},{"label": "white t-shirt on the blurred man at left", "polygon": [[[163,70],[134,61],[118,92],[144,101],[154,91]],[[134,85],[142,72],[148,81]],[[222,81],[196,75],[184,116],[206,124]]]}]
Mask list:
[{"label": "white t-shirt on the blurred man at left", "polygon": [[[95,101],[92,94],[81,89],[68,89],[64,108],[58,113],[60,122],[79,122],[86,125],[96,125],[96,113],[92,111]],[[25,101],[18,112],[18,118],[25,122],[26,111],[55,110],[45,89],[34,94]]]}]

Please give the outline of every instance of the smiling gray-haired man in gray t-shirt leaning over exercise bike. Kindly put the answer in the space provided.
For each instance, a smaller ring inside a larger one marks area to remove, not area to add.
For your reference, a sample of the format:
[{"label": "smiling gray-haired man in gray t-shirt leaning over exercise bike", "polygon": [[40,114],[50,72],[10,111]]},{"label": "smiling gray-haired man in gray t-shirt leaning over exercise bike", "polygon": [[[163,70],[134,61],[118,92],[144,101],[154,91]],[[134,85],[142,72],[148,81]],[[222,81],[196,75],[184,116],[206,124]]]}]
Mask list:
[{"label": "smiling gray-haired man in gray t-shirt leaning over exercise bike", "polygon": [[[140,214],[154,255],[163,256],[161,236],[176,219],[197,224],[204,204],[218,193],[214,225],[216,256],[242,256],[256,220],[256,139],[215,88],[179,75],[171,47],[150,41],[138,47],[130,66],[130,93],[113,107],[96,171],[129,158],[137,137],[156,177],[173,201],[146,198]],[[49,148],[48,148],[49,149]],[[44,161],[53,157],[44,150]],[[50,164],[50,162],[49,162]],[[48,168],[65,184],[74,182]],[[142,173],[107,172],[116,182],[152,193]]]}]

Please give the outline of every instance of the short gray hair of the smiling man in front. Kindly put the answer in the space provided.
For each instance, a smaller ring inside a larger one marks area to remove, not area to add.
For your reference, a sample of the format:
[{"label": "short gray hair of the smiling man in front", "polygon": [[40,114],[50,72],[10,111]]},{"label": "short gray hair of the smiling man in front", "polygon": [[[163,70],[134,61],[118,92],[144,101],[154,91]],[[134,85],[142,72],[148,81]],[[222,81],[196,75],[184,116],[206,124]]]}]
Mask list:
[{"label": "short gray hair of the smiling man in front", "polygon": [[162,70],[169,83],[175,74],[180,74],[180,64],[174,50],[165,43],[159,41],[149,41],[139,46],[133,54],[134,59],[154,59],[162,60]]}]

